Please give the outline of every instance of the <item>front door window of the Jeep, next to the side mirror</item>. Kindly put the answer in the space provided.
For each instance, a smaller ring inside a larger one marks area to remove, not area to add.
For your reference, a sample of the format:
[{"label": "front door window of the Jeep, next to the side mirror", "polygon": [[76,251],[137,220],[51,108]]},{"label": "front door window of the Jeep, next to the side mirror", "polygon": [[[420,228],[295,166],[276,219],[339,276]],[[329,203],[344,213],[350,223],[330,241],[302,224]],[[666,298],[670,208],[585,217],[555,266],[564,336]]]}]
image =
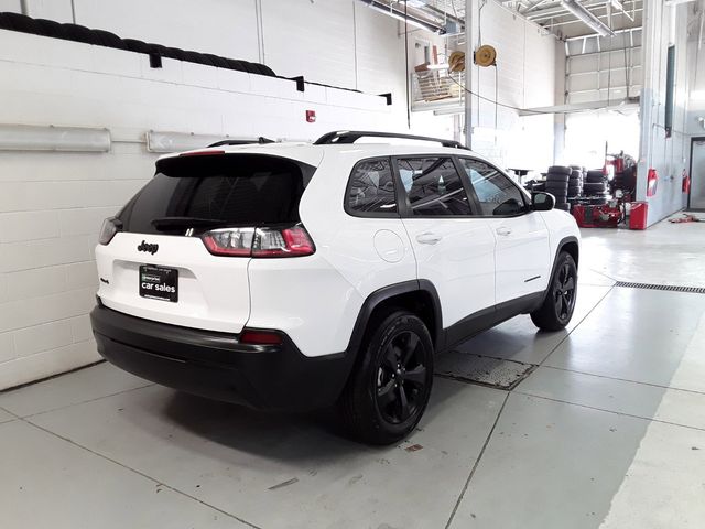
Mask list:
[{"label": "front door window of the Jeep, next to the side mirror", "polygon": [[521,191],[496,168],[467,158],[462,158],[460,164],[470,179],[482,215],[519,215],[527,210]]}]

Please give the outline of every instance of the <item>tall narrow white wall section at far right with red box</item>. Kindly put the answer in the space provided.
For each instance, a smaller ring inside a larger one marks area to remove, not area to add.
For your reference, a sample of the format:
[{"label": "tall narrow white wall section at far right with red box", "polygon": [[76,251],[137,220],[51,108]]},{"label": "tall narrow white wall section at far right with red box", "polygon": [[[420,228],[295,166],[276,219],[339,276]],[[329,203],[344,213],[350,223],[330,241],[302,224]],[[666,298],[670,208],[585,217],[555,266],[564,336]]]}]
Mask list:
[{"label": "tall narrow white wall section at far right with red box", "polygon": [[[641,137],[637,173],[637,198],[649,203],[648,224],[652,225],[684,207],[682,174],[687,170],[690,137],[686,131],[687,74],[687,9],[676,7],[676,67],[673,133],[665,138],[666,51],[671,9],[661,2],[644,4],[643,88],[641,90]],[[681,29],[681,31],[677,31]],[[659,176],[655,196],[647,197],[647,174],[652,168]]]}]

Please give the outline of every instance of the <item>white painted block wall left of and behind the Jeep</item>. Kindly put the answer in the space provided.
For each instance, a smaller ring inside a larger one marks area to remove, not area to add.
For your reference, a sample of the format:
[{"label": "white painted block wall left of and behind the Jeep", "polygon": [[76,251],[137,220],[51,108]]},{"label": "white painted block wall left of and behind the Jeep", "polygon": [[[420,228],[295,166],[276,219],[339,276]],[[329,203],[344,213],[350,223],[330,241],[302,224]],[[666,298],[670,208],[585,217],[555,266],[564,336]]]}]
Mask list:
[{"label": "white painted block wall left of and behind the Jeep", "polygon": [[[35,17],[70,6],[29,4]],[[263,0],[258,41],[254,1],[204,0],[203,15],[188,4],[75,0],[84,25],[252,61],[263,45],[279,73],[392,90],[401,105],[312,85],[302,94],[292,82],[180,61],[153,69],[144,55],[0,30],[0,123],[105,127],[112,137],[105,154],[0,151],[0,389],[98,358],[87,317],[93,248],[101,219],[153,173],[148,130],[313,139],[404,126],[403,45],[392,19],[358,12],[352,0]],[[313,35],[324,43],[328,31],[333,44],[316,48]],[[305,122],[306,109],[316,123]]]}]

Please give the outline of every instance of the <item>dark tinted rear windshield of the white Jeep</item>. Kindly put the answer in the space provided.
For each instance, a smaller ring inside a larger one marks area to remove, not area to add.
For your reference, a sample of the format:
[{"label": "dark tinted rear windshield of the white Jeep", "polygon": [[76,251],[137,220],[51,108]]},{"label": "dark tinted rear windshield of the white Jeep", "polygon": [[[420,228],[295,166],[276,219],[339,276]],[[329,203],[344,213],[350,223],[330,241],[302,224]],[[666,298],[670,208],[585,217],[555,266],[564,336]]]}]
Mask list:
[{"label": "dark tinted rear windshield of the white Jeep", "polygon": [[160,160],[118,215],[123,231],[183,235],[219,226],[293,224],[314,168],[254,154]]}]

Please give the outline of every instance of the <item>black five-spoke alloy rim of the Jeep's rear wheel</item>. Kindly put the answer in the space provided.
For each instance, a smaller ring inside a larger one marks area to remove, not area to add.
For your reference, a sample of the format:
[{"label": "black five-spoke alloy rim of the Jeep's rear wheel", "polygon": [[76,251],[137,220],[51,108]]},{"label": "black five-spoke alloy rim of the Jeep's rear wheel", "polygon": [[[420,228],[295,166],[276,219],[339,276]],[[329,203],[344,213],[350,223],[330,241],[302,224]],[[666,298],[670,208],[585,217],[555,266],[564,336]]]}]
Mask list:
[{"label": "black five-spoke alloy rim of the Jeep's rear wheel", "polygon": [[425,404],[426,367],[421,338],[413,331],[392,337],[377,368],[377,407],[386,421],[400,424]]}]

